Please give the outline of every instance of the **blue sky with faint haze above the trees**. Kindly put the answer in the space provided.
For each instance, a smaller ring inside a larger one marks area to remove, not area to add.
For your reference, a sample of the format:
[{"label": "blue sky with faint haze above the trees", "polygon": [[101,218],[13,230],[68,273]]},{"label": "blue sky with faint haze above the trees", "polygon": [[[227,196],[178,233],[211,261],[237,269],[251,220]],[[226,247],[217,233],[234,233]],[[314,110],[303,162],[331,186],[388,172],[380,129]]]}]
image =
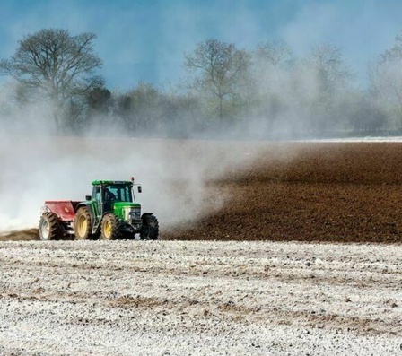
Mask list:
[{"label": "blue sky with faint haze above the trees", "polygon": [[185,52],[205,39],[246,49],[283,39],[299,56],[330,42],[363,82],[402,31],[400,0],[2,0],[0,14],[0,58],[43,28],[94,32],[107,87],[123,91],[178,82]]}]

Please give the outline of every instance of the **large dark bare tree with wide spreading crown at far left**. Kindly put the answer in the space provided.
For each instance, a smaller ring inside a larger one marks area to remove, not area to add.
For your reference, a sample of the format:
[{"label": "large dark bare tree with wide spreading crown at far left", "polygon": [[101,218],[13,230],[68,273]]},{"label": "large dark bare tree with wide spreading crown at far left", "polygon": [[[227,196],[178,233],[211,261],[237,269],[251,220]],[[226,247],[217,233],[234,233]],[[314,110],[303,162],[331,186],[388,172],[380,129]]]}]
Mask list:
[{"label": "large dark bare tree with wide spreading crown at far left", "polygon": [[0,73],[30,90],[32,100],[48,100],[55,126],[66,128],[74,117],[69,120],[65,110],[79,105],[87,92],[103,84],[94,74],[102,65],[92,48],[95,38],[93,33],[71,36],[68,30],[39,30],[19,41],[15,54],[0,62]]}]

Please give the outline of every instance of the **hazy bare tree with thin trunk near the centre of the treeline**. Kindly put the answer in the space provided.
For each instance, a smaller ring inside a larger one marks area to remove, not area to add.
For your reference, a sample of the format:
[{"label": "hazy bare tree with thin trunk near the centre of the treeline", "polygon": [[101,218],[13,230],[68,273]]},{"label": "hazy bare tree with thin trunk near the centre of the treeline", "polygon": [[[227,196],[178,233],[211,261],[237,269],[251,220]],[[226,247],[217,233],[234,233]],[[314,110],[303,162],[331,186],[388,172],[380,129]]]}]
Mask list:
[{"label": "hazy bare tree with thin trunk near the centre of the treeline", "polygon": [[217,101],[221,125],[224,101],[239,95],[249,60],[246,51],[216,39],[199,43],[192,53],[185,56],[185,67],[195,76],[192,88]]}]

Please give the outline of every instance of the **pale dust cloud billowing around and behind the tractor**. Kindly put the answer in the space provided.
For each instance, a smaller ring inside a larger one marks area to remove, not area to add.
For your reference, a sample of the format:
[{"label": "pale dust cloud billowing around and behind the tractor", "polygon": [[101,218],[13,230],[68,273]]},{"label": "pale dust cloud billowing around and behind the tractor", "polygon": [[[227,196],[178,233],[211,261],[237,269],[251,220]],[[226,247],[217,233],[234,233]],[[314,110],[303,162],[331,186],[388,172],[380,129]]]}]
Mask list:
[{"label": "pale dust cloud billowing around and behind the tractor", "polygon": [[[219,209],[225,196],[205,189],[228,169],[247,167],[247,144],[47,135],[9,135],[0,143],[0,232],[38,226],[45,200],[84,200],[94,179],[142,184],[136,194],[162,230]],[[254,147],[254,146],[253,146]]]}]

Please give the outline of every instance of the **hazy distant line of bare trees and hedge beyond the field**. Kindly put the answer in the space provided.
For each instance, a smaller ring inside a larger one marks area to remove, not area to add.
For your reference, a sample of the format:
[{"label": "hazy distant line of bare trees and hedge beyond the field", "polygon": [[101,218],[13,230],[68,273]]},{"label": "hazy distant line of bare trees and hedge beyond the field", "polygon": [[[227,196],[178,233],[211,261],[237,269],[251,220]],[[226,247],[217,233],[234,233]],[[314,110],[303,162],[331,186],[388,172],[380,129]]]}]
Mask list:
[{"label": "hazy distant line of bare trees and hedge beyond the field", "polygon": [[252,51],[207,39],[183,57],[186,77],[111,92],[92,33],[46,29],[0,62],[0,119],[13,130],[66,135],[290,139],[402,133],[402,37],[359,85],[341,48],[293,55],[281,41]]}]

